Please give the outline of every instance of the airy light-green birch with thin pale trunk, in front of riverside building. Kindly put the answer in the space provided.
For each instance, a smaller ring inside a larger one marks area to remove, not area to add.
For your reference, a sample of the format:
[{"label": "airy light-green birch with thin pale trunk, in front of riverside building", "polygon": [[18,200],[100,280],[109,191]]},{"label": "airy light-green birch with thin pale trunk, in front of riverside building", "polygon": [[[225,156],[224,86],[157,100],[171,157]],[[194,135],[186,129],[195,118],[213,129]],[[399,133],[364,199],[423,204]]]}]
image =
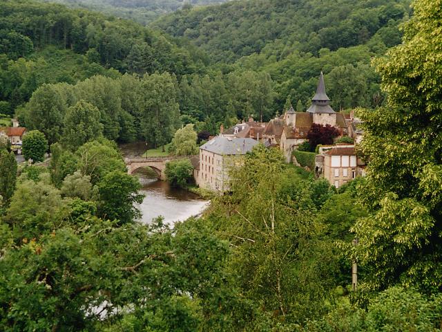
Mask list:
[{"label": "airy light-green birch with thin pale trunk, in front of riverside building", "polygon": [[287,324],[325,311],[336,268],[332,246],[320,239],[309,181],[295,172],[279,150],[259,145],[231,172],[231,195],[210,216],[233,247],[228,266],[236,286],[260,303],[261,314]]}]

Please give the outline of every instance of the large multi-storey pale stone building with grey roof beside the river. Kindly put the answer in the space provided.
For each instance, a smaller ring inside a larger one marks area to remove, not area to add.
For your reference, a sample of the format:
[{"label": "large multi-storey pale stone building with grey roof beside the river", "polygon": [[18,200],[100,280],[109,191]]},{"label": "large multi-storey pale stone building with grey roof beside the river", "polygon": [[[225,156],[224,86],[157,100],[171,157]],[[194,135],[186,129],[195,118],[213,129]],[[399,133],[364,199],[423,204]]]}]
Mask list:
[{"label": "large multi-storey pale stone building with grey roof beside the river", "polygon": [[229,172],[241,164],[241,157],[251,151],[258,141],[253,138],[216,136],[200,147],[197,184],[200,187],[225,192],[229,190]]}]

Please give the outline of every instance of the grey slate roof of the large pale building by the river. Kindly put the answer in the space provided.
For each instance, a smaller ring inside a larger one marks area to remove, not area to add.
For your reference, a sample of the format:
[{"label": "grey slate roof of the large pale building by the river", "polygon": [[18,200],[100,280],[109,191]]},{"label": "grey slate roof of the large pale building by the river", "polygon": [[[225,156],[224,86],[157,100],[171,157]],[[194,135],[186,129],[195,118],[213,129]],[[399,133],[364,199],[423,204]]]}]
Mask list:
[{"label": "grey slate roof of the large pale building by the river", "polygon": [[200,149],[214,154],[236,155],[247,154],[255,145],[258,145],[258,142],[252,138],[216,136],[202,145]]}]

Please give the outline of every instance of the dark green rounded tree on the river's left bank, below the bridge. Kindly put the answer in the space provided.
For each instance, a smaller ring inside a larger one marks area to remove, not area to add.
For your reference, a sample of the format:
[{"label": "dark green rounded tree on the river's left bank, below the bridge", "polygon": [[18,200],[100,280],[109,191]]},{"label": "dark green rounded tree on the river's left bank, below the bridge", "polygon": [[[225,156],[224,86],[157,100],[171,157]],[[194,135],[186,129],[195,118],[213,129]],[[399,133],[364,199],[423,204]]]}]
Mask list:
[{"label": "dark green rounded tree on the river's left bank, below the bridge", "polygon": [[117,220],[121,225],[140,218],[144,196],[138,194],[141,185],[137,178],[120,171],[106,174],[98,183],[98,213],[105,219]]}]

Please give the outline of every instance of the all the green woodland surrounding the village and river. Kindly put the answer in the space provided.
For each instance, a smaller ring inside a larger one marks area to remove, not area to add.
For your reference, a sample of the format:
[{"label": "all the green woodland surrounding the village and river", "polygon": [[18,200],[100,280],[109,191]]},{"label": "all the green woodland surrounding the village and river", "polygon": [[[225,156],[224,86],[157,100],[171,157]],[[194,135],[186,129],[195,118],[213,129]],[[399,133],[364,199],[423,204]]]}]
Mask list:
[{"label": "all the green woodland surrounding the village and river", "polygon": [[[439,2],[240,0],[142,26],[3,1],[0,118],[32,163],[0,145],[1,329],[441,331]],[[336,190],[258,145],[200,218],[138,221],[117,143],[193,149],[305,111],[321,70],[358,108],[367,176]]]}]

